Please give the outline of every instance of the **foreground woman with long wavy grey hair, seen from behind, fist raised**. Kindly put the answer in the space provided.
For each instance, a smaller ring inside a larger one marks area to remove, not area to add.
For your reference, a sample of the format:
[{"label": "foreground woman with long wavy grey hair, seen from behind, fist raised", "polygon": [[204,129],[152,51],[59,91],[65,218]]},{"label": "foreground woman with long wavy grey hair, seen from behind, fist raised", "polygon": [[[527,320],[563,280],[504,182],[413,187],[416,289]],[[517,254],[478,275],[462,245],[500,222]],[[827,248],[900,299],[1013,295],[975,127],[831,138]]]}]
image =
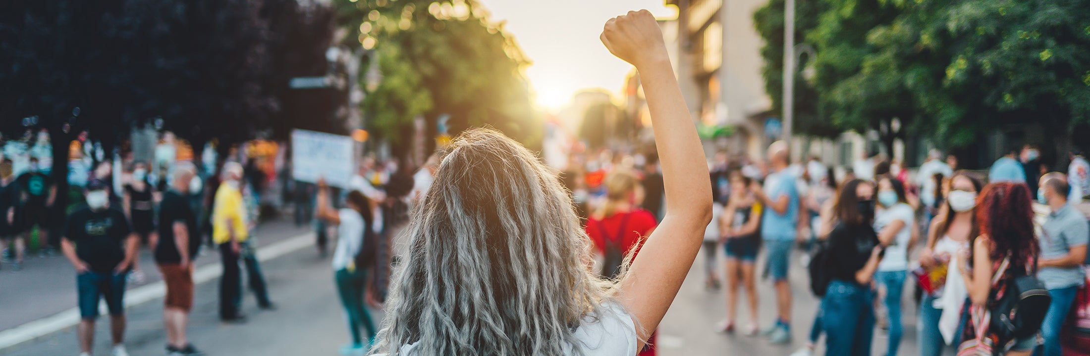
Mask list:
[{"label": "foreground woman with long wavy grey hair, seen from behind, fist raised", "polygon": [[492,130],[452,142],[413,213],[373,352],[390,355],[635,355],[701,248],[712,193],[700,137],[647,11],[602,41],[640,72],[666,216],[617,280],[591,268],[591,242],[557,173]]}]

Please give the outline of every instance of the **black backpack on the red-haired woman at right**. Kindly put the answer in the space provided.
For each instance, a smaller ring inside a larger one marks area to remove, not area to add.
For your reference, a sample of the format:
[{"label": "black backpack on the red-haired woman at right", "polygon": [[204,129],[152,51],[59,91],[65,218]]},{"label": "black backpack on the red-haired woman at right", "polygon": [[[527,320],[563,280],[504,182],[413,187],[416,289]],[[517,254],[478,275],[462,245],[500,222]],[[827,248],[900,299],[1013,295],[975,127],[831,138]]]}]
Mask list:
[{"label": "black backpack on the red-haired woman at right", "polygon": [[1036,274],[1034,261],[1031,273],[1016,272],[1004,282],[1007,284],[1006,292],[992,305],[989,327],[1001,343],[1029,337],[1041,331],[1052,295]]}]

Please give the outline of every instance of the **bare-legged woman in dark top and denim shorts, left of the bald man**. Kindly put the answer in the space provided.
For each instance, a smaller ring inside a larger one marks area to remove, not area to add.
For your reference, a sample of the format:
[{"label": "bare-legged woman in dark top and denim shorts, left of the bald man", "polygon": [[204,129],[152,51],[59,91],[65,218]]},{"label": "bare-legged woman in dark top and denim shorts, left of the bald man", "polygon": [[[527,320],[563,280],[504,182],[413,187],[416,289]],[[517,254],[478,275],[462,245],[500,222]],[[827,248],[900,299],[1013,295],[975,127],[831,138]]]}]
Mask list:
[{"label": "bare-legged woman in dark top and denim shorts, left of the bald man", "polygon": [[[720,242],[727,255],[725,273],[727,275],[727,320],[719,330],[732,332],[735,318],[738,316],[738,289],[746,289],[749,302],[749,324],[743,333],[756,334],[758,331],[758,296],[756,296],[756,254],[761,248],[761,209],[749,186],[753,180],[741,172],[730,174],[730,199],[724,209],[723,218],[712,219],[712,224],[718,224]],[[714,217],[714,214],[713,214]],[[739,283],[740,282],[740,283]]]}]

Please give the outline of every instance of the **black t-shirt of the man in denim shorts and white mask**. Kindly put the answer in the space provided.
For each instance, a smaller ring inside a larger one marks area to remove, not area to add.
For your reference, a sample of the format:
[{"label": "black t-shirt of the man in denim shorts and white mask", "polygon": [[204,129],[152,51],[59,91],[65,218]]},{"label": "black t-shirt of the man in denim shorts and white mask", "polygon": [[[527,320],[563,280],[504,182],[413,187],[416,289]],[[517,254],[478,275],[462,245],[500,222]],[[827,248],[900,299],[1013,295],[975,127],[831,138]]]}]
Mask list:
[{"label": "black t-shirt of the man in denim shorts and white mask", "polygon": [[96,272],[109,272],[125,259],[125,240],[132,229],[121,210],[82,207],[69,216],[64,238],[75,243],[75,254]]}]

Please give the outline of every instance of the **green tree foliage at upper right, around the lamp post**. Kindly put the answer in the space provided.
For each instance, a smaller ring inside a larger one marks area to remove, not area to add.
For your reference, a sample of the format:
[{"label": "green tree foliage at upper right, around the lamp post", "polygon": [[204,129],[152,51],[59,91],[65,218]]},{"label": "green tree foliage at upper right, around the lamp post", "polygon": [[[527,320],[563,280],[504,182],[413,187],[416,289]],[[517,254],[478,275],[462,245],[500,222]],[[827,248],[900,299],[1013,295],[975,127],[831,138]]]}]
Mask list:
[{"label": "green tree foliage at upper right, around the lamp post", "polygon": [[[778,7],[755,15],[770,42],[765,51],[783,44],[772,44],[783,35]],[[818,23],[806,27],[813,7]],[[797,25],[818,52],[819,121],[865,131],[888,128],[896,118],[948,147],[1010,125],[1068,132],[1090,122],[1086,9],[1088,0],[800,2]],[[767,71],[778,71],[780,53],[765,54]],[[765,76],[776,100],[777,76]]]}]

